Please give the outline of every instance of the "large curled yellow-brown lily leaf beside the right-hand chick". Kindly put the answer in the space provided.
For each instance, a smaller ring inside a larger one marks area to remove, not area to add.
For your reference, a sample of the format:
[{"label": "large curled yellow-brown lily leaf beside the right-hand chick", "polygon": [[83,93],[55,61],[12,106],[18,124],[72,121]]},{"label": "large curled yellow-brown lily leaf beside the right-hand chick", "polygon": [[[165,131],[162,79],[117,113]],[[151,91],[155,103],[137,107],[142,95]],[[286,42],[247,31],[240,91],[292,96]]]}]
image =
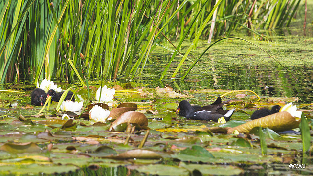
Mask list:
[{"label": "large curled yellow-brown lily leaf beside the right-hand chick", "polygon": [[301,119],[292,117],[288,112],[278,112],[266,117],[255,119],[228,129],[228,133],[233,133],[237,130],[240,133],[249,133],[254,127],[263,127],[274,130],[275,132],[282,132],[299,127]]}]

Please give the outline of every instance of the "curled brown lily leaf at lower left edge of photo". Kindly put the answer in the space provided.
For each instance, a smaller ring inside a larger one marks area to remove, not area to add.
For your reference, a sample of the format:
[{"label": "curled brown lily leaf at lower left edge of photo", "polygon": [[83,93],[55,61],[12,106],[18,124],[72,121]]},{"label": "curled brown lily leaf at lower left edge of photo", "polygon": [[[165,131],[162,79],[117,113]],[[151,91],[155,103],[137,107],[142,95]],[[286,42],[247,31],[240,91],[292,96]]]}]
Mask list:
[{"label": "curled brown lily leaf at lower left edge of photo", "polygon": [[5,143],[1,146],[0,150],[13,154],[41,152],[40,147],[38,147],[38,145],[33,142],[27,142],[23,144]]}]

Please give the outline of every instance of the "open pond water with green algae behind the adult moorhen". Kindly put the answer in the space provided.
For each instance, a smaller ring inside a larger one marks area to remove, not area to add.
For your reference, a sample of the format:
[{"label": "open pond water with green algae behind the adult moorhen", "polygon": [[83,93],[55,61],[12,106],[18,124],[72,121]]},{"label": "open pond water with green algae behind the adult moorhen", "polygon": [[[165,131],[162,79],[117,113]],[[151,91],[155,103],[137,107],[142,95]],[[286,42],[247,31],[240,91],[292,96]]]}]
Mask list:
[{"label": "open pond water with green algae behind the adult moorhen", "polygon": [[[299,81],[255,46],[237,39],[228,39],[208,50],[185,80],[180,78],[192,64],[187,60],[178,75],[170,79],[182,58],[177,57],[170,67],[170,74],[167,74],[163,81],[158,81],[171,54],[164,52],[163,49],[155,49],[151,57],[152,63],[146,66],[145,74],[138,76],[136,82],[151,87],[170,84],[180,90],[250,89],[265,97],[298,97],[299,103],[313,102],[313,38],[297,36],[271,38],[274,42],[256,41],[253,37],[250,37],[249,41],[275,57]],[[203,40],[198,45],[189,56],[191,60],[196,60],[208,47]]]}]

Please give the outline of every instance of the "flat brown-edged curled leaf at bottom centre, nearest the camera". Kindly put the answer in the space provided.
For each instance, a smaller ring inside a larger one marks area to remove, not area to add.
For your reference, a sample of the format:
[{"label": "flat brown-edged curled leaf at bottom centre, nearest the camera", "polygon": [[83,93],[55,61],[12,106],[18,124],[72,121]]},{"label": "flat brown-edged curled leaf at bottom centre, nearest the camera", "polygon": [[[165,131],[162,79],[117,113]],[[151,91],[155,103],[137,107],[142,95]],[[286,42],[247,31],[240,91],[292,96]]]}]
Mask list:
[{"label": "flat brown-edged curled leaf at bottom centre, nearest the camera", "polygon": [[156,152],[150,150],[134,149],[127,152],[115,155],[108,156],[107,158],[114,159],[160,159],[162,156]]}]

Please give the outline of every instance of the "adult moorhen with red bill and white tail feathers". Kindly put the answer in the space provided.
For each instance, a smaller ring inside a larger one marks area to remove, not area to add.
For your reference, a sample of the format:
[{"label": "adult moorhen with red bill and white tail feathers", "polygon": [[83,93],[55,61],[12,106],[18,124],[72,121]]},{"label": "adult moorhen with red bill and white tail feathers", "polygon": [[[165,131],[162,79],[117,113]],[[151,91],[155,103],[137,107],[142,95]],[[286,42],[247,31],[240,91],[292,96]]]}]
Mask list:
[{"label": "adult moorhen with red bill and white tail feathers", "polygon": [[221,97],[211,105],[203,106],[195,110],[190,103],[183,100],[179,103],[179,110],[184,111],[185,117],[192,120],[212,120],[217,122],[219,118],[224,117],[226,121],[229,121],[231,115],[234,113],[235,109],[223,110],[222,106],[228,103],[230,100],[222,102]]}]

